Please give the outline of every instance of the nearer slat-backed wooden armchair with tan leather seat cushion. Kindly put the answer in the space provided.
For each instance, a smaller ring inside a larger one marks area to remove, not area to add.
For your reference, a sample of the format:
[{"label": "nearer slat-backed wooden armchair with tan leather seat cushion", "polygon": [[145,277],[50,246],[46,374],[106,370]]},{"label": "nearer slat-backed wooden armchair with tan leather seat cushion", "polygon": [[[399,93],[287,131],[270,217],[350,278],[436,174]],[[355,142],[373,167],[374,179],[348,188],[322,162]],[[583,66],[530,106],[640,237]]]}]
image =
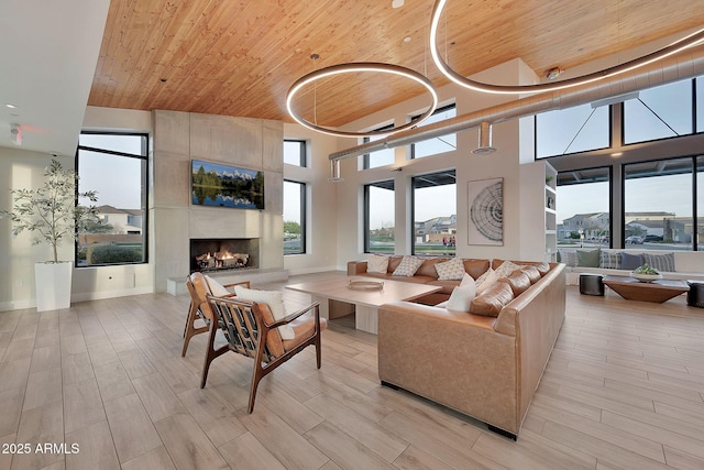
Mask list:
[{"label": "nearer slat-backed wooden armchair with tan leather seat cushion", "polygon": [[[224,348],[254,359],[248,413],[254,409],[260,381],[306,347],[316,346],[317,367],[320,369],[320,332],[327,324],[324,318],[320,319],[317,302],[278,321],[274,319],[267,304],[211,295],[208,296],[208,302],[228,340]],[[308,311],[312,311],[312,316],[304,316]],[[293,339],[282,339],[277,329],[282,325],[293,327]],[[215,321],[210,323],[210,328],[215,328]],[[218,356],[221,353],[218,351]],[[201,389],[207,373],[204,372]]]}]

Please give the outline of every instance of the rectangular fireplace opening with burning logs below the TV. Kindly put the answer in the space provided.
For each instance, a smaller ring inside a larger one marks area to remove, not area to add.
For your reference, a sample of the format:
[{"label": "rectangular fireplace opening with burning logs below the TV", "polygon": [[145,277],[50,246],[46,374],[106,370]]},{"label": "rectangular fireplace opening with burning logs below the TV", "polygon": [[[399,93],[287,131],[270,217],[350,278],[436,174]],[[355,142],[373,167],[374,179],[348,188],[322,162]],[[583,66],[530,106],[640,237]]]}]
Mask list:
[{"label": "rectangular fireplace opening with burning logs below the TV", "polygon": [[190,272],[258,267],[258,239],[191,239]]}]

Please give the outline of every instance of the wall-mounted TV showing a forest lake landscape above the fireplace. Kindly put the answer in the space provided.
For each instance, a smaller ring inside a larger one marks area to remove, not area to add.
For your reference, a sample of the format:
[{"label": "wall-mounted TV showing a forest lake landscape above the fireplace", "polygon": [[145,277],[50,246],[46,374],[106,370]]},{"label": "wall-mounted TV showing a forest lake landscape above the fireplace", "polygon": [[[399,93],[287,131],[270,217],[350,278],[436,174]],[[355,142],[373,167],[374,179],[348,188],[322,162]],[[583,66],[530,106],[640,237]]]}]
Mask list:
[{"label": "wall-mounted TV showing a forest lake landscape above the fireplace", "polygon": [[264,209],[264,173],[219,163],[191,161],[193,204]]}]

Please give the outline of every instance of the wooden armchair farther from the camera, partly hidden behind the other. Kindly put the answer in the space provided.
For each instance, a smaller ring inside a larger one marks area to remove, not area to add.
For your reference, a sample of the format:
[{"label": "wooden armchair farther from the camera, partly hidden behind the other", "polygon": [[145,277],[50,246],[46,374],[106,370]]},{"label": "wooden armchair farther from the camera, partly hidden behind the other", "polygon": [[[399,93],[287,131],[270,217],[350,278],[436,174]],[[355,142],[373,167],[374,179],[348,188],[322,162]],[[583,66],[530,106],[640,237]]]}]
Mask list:
[{"label": "wooden armchair farther from the camera, partly hidden behind the other", "polygon": [[[221,287],[226,289],[232,288],[235,285],[243,285],[245,287],[250,287],[250,282],[240,282],[233,284],[226,284]],[[208,304],[208,295],[212,294],[210,286],[208,285],[208,281],[202,273],[193,273],[186,278],[186,286],[188,287],[188,293],[190,294],[190,306],[188,308],[188,317],[186,318],[186,328],[184,329],[184,348],[180,351],[180,357],[186,356],[186,351],[188,350],[188,343],[190,342],[190,338],[196,335],[200,335],[201,332],[208,331],[208,350],[206,352],[206,361],[204,364],[204,372],[200,382],[200,387],[202,389],[206,384],[206,376],[208,376],[208,369],[210,369],[210,362],[213,359],[228,351],[228,347],[224,346],[219,348],[218,350],[213,349],[217,328],[210,328],[212,324],[212,319],[215,315],[210,309],[210,305]],[[234,296],[234,293],[228,294],[228,296]],[[196,328],[196,320],[201,319],[205,321],[205,326]]]}]

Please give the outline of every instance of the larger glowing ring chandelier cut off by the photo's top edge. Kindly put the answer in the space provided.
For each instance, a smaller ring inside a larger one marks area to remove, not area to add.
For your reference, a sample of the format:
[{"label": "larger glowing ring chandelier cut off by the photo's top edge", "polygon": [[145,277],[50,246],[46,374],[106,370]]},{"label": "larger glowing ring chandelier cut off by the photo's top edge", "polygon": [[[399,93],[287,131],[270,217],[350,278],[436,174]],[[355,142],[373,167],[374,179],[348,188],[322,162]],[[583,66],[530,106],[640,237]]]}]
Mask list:
[{"label": "larger glowing ring chandelier cut off by the photo's top edge", "polygon": [[683,51],[688,47],[691,47],[704,40],[704,30],[700,30],[688,36],[682,37],[681,40],[673,42],[672,44],[666,47],[662,47],[650,54],[646,54],[642,57],[638,57],[632,61],[628,61],[623,64],[615,65],[613,67],[604,68],[603,70],[582,75],[580,77],[569,78],[566,80],[538,84],[538,85],[514,85],[514,86],[491,85],[491,84],[484,84],[481,81],[471,80],[458,74],[452,69],[452,67],[448,65],[447,62],[442,59],[442,57],[440,57],[440,54],[438,53],[438,44],[437,44],[438,23],[440,22],[440,15],[442,14],[442,10],[444,9],[444,6],[447,2],[448,0],[436,0],[435,6],[432,7],[432,19],[430,22],[430,55],[432,56],[432,61],[436,63],[436,65],[438,66],[442,75],[448,77],[453,83],[460,85],[461,87],[469,88],[475,91],[518,95],[518,94],[554,91],[563,88],[575,87],[578,85],[597,81],[606,77],[612,77],[614,75],[623,74],[625,72],[632,70],[638,67],[642,67],[644,65],[648,65],[661,58],[668,57],[672,54],[676,54],[678,52]]}]

